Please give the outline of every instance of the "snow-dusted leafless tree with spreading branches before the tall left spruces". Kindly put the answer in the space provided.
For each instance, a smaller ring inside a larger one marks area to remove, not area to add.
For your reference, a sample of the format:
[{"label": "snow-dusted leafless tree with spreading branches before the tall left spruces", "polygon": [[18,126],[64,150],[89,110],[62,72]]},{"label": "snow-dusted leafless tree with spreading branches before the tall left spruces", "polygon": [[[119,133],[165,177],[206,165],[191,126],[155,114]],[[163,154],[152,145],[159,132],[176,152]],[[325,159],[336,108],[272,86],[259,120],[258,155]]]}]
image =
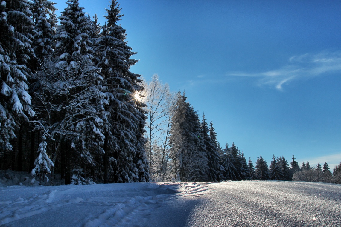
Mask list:
[{"label": "snow-dusted leafless tree with spreading branches before the tall left spruces", "polygon": [[[101,152],[103,121],[96,107],[100,78],[88,59],[80,58],[70,64],[45,62],[42,67],[37,72],[41,89],[35,94],[37,113],[33,123],[48,135],[52,161],[55,163],[59,157],[65,183],[71,183],[71,177],[75,177],[70,171],[74,170],[76,176],[86,172],[84,168],[92,166],[93,154]],[[52,178],[53,171],[52,168]]]}]

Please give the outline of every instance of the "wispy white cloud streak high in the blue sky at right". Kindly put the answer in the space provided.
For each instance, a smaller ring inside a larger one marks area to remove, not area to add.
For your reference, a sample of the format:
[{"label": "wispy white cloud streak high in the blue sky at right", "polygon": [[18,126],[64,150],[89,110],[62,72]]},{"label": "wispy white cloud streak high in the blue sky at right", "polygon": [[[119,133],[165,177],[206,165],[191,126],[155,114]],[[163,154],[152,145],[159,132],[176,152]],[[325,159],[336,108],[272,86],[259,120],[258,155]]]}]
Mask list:
[{"label": "wispy white cloud streak high in the blue sky at right", "polygon": [[341,51],[324,51],[318,54],[292,56],[285,66],[264,72],[228,72],[227,76],[258,78],[260,85],[270,85],[278,90],[294,80],[308,79],[331,72],[341,72]]}]

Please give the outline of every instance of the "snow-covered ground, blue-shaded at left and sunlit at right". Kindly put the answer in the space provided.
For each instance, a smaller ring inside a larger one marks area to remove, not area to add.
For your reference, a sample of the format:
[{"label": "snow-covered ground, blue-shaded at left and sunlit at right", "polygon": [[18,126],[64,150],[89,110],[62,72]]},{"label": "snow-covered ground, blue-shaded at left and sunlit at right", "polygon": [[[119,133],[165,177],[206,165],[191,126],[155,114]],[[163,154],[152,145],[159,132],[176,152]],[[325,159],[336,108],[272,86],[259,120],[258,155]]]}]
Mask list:
[{"label": "snow-covered ground, blue-shaded at left and sunlit at right", "polygon": [[0,186],[0,226],[341,226],[341,185],[227,181]]}]

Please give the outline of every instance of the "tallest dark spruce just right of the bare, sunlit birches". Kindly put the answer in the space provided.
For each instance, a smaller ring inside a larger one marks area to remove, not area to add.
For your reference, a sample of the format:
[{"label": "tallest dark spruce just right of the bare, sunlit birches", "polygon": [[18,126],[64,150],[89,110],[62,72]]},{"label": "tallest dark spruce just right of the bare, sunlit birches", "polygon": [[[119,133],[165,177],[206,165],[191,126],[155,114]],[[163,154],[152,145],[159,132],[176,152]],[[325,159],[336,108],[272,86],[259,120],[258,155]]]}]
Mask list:
[{"label": "tallest dark spruce just right of the bare, sunlit birches", "polygon": [[174,176],[179,174],[182,181],[206,180],[208,160],[200,120],[186,100],[185,93],[181,96],[179,92],[170,133],[173,173]]}]

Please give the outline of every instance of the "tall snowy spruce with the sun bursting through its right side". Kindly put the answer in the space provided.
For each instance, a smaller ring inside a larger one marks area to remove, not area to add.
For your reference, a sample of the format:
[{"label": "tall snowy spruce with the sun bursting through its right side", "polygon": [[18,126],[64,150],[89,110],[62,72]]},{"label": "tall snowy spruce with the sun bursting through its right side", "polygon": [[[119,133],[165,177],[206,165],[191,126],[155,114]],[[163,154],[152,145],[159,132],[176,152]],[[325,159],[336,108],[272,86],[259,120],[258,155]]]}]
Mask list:
[{"label": "tall snowy spruce with the sun bursting through its right side", "polygon": [[143,146],[146,142],[143,137],[146,112],[142,109],[145,104],[135,96],[144,87],[140,85],[140,75],[129,71],[137,60],[130,59],[135,53],[127,46],[125,30],[117,24],[123,16],[119,5],[112,1],[109,7],[95,50],[103,77],[101,91],[105,95],[101,104],[107,144],[104,165],[107,159],[112,160],[112,166],[104,166],[112,172],[104,175],[109,174],[111,182],[146,182],[149,181],[149,163]]}]

